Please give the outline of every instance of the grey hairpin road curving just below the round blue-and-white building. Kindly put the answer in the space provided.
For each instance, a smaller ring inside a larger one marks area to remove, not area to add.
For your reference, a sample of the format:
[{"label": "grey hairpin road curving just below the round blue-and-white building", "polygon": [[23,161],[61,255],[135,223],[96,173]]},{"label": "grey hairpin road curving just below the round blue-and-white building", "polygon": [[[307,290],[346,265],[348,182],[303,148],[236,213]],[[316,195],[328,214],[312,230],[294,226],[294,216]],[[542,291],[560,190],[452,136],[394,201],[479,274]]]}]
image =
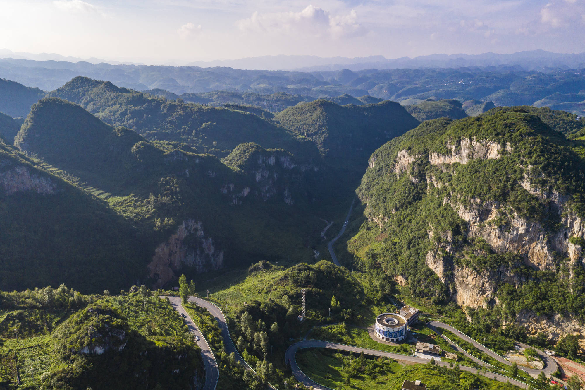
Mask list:
[{"label": "grey hairpin road curving just below the round blue-and-white building", "polygon": [[[428,359],[419,358],[416,356],[401,355],[401,354],[395,354],[395,353],[391,353],[391,352],[384,352],[384,351],[378,351],[378,350],[369,350],[367,348],[352,347],[351,345],[330,343],[329,341],[305,340],[305,341],[299,341],[298,343],[292,344],[290,347],[288,347],[288,350],[285,354],[285,359],[287,361],[290,361],[292,375],[294,375],[294,377],[297,379],[297,381],[301,382],[303,385],[305,385],[307,387],[313,386],[313,388],[315,388],[315,389],[322,389],[322,390],[326,390],[329,388],[324,386],[324,385],[320,385],[315,381],[312,381],[312,379],[307,377],[307,375],[305,375],[305,373],[302,372],[301,369],[297,365],[297,361],[295,359],[295,354],[297,353],[298,350],[300,350],[302,348],[331,348],[333,350],[342,350],[342,351],[348,351],[348,352],[353,352],[353,353],[362,353],[363,352],[366,355],[387,357],[387,358],[391,358],[394,360],[402,360],[402,361],[419,363],[419,364],[427,364],[429,362]],[[435,364],[449,367],[448,362],[436,361]],[[473,372],[473,374],[483,375],[483,374],[481,374],[481,370],[477,370],[477,368],[465,367],[465,366],[460,366],[459,368],[462,371],[469,371],[469,372]],[[519,386],[519,387],[524,388],[524,389],[528,389],[528,384],[525,384],[524,382],[518,381],[517,379],[505,377],[504,375],[495,374],[494,372],[486,372],[486,374],[484,376],[488,377],[488,378],[497,379],[500,382],[510,381],[510,383],[513,385]]]}]

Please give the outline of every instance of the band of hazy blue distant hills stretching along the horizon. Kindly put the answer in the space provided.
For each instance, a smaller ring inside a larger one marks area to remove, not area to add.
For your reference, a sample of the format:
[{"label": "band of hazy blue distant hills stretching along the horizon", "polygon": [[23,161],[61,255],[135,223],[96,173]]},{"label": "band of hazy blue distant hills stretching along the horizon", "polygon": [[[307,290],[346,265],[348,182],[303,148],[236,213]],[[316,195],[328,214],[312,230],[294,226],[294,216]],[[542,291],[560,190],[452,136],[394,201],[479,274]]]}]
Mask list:
[{"label": "band of hazy blue distant hills stretching along the horizon", "polygon": [[[11,80],[42,90],[54,90],[81,75],[137,91],[150,90],[167,98],[177,95],[185,101],[213,105],[254,104],[272,112],[300,101],[333,98],[344,93],[356,98],[371,95],[394,101],[435,97],[522,105],[555,93],[579,94],[585,89],[585,76],[578,69],[525,70],[502,64],[302,72],[0,59],[0,71]],[[198,95],[209,92],[215,95]],[[243,95],[248,93],[252,95],[245,98]],[[576,105],[569,108],[573,113],[581,111]]]}]

